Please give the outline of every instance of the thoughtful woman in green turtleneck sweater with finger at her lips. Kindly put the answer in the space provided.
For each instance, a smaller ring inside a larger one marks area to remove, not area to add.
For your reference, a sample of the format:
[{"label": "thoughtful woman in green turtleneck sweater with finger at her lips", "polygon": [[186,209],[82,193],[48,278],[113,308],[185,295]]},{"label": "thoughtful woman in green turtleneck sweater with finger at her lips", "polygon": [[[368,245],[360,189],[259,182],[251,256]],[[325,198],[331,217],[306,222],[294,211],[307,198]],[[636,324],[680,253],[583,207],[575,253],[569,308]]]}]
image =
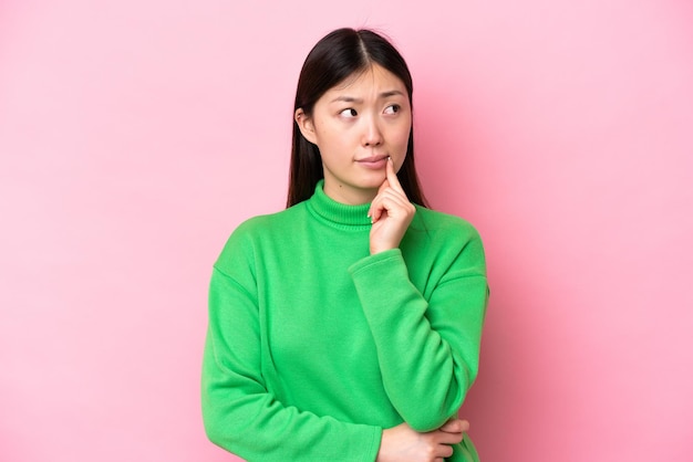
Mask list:
[{"label": "thoughtful woman in green turtleneck sweater with finger at her lips", "polygon": [[476,231],[425,208],[406,63],[337,30],[299,77],[287,210],[214,266],[207,434],[250,461],[478,460],[457,411],[487,295]]}]

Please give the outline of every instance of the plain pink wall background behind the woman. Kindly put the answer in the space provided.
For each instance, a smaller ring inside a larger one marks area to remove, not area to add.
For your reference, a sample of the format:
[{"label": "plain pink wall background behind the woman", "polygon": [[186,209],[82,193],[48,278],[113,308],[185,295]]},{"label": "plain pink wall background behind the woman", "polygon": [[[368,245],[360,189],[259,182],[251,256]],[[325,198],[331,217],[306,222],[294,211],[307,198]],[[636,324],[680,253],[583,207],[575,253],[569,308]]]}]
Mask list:
[{"label": "plain pink wall background behind the woman", "polygon": [[0,460],[235,460],[199,411],[210,267],[282,208],[341,25],[400,46],[426,192],[485,240],[484,461],[692,460],[685,0],[0,2]]}]

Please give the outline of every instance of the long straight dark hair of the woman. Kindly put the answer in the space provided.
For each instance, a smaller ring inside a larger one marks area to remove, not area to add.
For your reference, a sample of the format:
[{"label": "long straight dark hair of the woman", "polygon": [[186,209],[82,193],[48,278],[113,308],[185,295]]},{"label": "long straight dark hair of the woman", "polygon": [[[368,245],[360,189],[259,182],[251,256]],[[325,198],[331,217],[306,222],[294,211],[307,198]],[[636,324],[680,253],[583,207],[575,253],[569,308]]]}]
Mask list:
[{"label": "long straight dark hair of the woman", "polygon": [[[404,83],[413,111],[412,75],[400,52],[373,31],[348,28],[330,32],[313,46],[306,57],[296,90],[293,111],[302,108],[303,113],[310,117],[316,102],[328,90],[353,73],[368,70],[373,63],[392,72]],[[318,146],[303,137],[294,120],[287,207],[309,199],[314,192],[316,185],[322,178],[320,150]],[[413,124],[406,156],[397,172],[397,178],[407,198],[414,203],[426,207],[414,165]]]}]

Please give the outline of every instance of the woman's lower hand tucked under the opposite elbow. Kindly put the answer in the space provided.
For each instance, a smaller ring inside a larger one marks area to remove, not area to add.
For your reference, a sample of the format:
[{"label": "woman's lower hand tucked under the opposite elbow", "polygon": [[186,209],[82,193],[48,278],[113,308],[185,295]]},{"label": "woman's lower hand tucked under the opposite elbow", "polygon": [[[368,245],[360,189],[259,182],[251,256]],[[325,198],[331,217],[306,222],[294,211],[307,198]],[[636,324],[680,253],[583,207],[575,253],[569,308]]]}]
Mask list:
[{"label": "woman's lower hand tucked under the opposite elbow", "polygon": [[453,455],[452,444],[469,430],[466,420],[451,419],[437,430],[420,433],[406,423],[383,430],[376,462],[443,462]]}]

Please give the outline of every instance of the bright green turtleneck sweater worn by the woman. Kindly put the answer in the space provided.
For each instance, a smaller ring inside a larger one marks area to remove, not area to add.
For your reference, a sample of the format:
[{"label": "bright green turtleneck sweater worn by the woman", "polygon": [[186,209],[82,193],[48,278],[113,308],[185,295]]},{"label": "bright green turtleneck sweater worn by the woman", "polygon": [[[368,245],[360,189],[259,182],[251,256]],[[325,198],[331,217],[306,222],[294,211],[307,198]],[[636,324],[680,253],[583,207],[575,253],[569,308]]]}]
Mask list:
[{"label": "bright green turtleneck sweater worn by the woman", "polygon": [[[478,369],[484,250],[466,221],[418,208],[370,255],[369,204],[322,191],[238,227],[209,290],[203,416],[250,461],[373,462],[383,429],[455,416]],[[476,460],[465,435],[453,461]]]}]

